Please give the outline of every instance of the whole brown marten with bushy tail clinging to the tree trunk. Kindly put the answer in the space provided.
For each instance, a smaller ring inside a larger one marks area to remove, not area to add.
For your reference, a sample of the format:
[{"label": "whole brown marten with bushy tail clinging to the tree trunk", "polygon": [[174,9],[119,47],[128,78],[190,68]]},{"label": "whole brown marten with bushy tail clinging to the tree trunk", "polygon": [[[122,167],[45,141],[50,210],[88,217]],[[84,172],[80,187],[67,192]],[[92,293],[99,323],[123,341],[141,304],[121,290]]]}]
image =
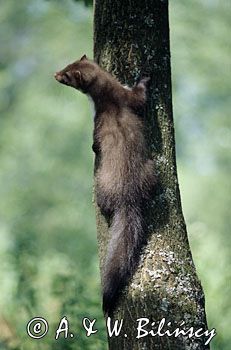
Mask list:
[{"label": "whole brown marten with bushy tail clinging to the tree trunk", "polygon": [[89,95],[95,105],[96,201],[110,226],[102,273],[103,310],[109,316],[146,242],[143,207],[156,178],[139,111],[145,106],[149,77],[128,88],[84,55],[55,73],[55,79]]}]

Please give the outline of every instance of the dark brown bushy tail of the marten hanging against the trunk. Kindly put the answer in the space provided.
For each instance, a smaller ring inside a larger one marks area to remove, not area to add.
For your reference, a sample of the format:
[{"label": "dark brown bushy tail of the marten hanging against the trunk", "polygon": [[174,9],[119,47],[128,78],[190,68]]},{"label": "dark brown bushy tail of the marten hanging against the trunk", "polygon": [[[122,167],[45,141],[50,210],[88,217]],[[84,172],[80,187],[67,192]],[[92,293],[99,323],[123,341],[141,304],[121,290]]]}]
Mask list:
[{"label": "dark brown bushy tail of the marten hanging against the trunk", "polygon": [[127,205],[118,208],[110,227],[111,238],[103,272],[103,310],[111,315],[121,289],[138,264],[144,243],[144,222],[140,208]]}]

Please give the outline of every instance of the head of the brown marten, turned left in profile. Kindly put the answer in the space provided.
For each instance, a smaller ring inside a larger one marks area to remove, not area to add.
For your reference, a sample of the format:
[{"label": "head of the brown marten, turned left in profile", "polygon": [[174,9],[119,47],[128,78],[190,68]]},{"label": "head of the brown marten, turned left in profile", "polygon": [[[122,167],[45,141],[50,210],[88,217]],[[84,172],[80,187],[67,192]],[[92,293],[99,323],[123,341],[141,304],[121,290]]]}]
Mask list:
[{"label": "head of the brown marten, turned left in profile", "polygon": [[87,93],[96,80],[99,67],[84,55],[80,60],[69,64],[54,77],[61,83]]}]

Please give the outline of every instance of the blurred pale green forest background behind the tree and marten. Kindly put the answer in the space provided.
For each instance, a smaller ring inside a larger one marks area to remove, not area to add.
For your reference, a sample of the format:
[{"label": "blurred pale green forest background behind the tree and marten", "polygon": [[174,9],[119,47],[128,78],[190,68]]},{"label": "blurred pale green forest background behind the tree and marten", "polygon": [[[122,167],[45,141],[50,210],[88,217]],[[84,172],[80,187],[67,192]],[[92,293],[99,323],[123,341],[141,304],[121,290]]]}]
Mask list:
[{"label": "blurred pale green forest background behind the tree and marten", "polygon": [[[53,73],[92,57],[92,7],[0,0],[0,349],[106,349],[92,205],[92,111]],[[178,176],[213,350],[231,346],[229,0],[172,0]],[[78,338],[54,340],[67,316]],[[35,316],[50,324],[39,341]],[[90,338],[83,317],[97,318]]]}]

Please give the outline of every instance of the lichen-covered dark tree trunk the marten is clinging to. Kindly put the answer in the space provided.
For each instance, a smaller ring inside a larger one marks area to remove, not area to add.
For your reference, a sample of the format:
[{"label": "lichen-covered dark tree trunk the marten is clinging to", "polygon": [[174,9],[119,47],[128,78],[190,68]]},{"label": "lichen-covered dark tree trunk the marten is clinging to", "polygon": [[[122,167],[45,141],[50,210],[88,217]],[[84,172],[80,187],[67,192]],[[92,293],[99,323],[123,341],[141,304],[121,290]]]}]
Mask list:
[{"label": "lichen-covered dark tree trunk the marten is clinging to", "polygon": [[[109,338],[109,348],[209,349],[205,336],[149,334],[136,339],[136,320],[141,317],[150,321],[145,329],[155,331],[165,318],[162,333],[177,327],[207,329],[204,295],[189,248],[177,180],[168,1],[96,0],[94,56],[101,67],[130,86],[141,76],[151,77],[145,120],[158,179],[152,206],[146,209],[148,244],[114,314],[113,320],[124,323],[120,335]],[[102,268],[109,235],[98,208],[96,214]]]}]

